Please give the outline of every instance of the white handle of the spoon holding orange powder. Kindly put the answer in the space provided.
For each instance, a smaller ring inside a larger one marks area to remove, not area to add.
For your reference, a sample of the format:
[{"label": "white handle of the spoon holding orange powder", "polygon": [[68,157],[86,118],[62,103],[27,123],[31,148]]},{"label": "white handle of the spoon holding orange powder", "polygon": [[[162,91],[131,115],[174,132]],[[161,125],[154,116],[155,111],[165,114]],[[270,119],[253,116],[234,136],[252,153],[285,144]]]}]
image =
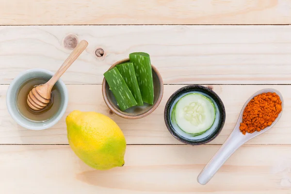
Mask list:
[{"label": "white handle of the spoon holding orange powder", "polygon": [[245,143],[244,135],[239,134],[238,126],[232,131],[225,143],[220,147],[216,154],[212,157],[210,162],[203,168],[197,177],[197,181],[205,185],[215,175],[219,168],[226,162],[226,160]]}]

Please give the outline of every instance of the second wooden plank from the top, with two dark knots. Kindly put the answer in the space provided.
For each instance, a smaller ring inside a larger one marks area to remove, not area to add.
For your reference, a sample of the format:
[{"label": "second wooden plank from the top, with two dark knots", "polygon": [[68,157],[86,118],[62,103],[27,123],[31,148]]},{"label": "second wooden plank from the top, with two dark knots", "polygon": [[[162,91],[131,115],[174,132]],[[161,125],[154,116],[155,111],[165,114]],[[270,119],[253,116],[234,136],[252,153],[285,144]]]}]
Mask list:
[{"label": "second wooden plank from the top, with two dark knots", "polygon": [[[70,33],[89,46],[66,83],[100,84],[110,65],[134,51],[151,55],[164,83],[291,83],[291,25],[2,26],[0,83],[26,69],[56,71],[71,52],[63,45]],[[100,60],[97,48],[105,51]]]}]

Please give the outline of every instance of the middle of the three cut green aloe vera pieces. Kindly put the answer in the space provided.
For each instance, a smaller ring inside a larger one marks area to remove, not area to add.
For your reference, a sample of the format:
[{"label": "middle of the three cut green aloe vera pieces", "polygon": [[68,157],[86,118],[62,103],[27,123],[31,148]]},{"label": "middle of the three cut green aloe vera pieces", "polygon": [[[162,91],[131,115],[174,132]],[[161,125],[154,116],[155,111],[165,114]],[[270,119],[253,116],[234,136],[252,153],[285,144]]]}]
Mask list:
[{"label": "middle of the three cut green aloe vera pieces", "polygon": [[144,102],[135,76],[133,64],[131,62],[126,62],[120,65],[116,65],[116,67],[123,77],[124,81],[126,82],[127,86],[129,87],[129,90],[131,91],[135,101],[137,102],[137,106],[143,106]]}]

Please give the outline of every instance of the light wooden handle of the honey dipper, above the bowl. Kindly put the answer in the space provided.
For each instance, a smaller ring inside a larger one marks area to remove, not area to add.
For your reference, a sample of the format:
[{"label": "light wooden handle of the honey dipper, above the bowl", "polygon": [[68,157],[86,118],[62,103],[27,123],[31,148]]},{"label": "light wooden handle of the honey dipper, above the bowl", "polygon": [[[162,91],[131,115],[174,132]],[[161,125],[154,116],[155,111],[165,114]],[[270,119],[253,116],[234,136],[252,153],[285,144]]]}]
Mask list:
[{"label": "light wooden handle of the honey dipper, above the bowl", "polygon": [[65,60],[63,65],[57,70],[54,76],[47,82],[49,87],[52,87],[59,78],[65,73],[65,71],[69,68],[69,66],[76,61],[76,59],[80,56],[80,54],[87,48],[88,42],[85,40],[81,40],[81,42],[76,46],[76,48],[71,52],[68,58]]}]

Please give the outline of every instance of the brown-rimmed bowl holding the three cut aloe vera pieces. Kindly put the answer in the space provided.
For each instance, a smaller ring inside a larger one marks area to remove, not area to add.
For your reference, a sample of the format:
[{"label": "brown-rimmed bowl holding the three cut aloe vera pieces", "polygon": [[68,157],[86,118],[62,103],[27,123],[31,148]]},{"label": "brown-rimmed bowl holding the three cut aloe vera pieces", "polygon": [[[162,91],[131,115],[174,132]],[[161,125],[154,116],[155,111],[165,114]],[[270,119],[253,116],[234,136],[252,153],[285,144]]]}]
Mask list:
[{"label": "brown-rimmed bowl holding the three cut aloe vera pieces", "polygon": [[[129,58],[116,62],[109,69],[112,69],[114,66],[119,65],[124,62],[129,62]],[[119,107],[117,106],[117,101],[112,91],[109,89],[109,85],[107,81],[104,78],[102,82],[102,95],[108,108],[113,113],[117,114],[118,116],[121,116],[127,119],[139,119],[152,113],[161,103],[162,95],[163,95],[162,76],[160,75],[157,68],[154,67],[153,65],[152,65],[152,74],[153,74],[153,83],[154,83],[154,104],[150,105],[150,104],[144,103],[144,106],[134,106],[125,111],[121,111]]]}]

